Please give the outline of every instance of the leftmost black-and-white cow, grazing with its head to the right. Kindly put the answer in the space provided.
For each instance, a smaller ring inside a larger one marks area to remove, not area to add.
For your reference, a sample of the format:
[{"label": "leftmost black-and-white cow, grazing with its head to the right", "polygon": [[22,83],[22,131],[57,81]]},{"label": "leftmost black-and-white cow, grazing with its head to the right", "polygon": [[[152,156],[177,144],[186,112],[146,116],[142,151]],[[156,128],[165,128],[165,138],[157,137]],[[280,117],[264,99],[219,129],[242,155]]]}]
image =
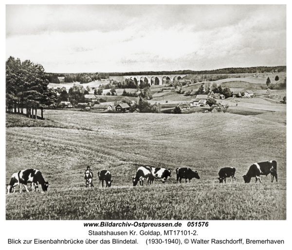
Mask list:
[{"label": "leftmost black-and-white cow, grazing with its head to the right", "polygon": [[39,170],[25,169],[20,170],[19,172],[14,173],[12,175],[10,183],[7,185],[7,194],[9,194],[12,191],[12,188],[14,189],[13,191],[14,193],[15,187],[17,185],[19,185],[19,193],[21,193],[22,192],[21,184],[24,185],[26,192],[29,192],[29,190],[27,189],[27,183],[31,183],[31,188],[33,187],[33,191],[37,191],[38,184],[41,185],[41,188],[44,192],[48,191],[49,183],[44,180]]}]

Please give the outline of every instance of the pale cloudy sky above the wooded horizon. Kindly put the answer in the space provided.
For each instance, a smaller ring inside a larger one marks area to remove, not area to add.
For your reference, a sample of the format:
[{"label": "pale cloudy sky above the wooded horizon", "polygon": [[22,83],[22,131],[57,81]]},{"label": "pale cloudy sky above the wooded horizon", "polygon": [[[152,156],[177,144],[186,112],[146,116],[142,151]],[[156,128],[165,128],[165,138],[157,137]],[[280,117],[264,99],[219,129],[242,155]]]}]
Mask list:
[{"label": "pale cloudy sky above the wooded horizon", "polygon": [[6,59],[46,72],[286,65],[286,5],[6,5]]}]

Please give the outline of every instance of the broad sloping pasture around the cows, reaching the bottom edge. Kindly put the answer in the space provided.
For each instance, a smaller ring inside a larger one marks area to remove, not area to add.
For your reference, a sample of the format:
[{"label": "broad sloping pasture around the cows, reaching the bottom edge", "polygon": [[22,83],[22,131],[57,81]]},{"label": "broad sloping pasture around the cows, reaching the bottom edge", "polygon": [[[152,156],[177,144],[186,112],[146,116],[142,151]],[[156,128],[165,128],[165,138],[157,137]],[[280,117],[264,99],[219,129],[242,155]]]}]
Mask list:
[{"label": "broad sloping pasture around the cows, reaching the bottom edge", "polygon": [[[57,110],[47,110],[46,118],[90,130],[6,128],[6,183],[25,168],[39,169],[50,183],[45,194],[17,188],[6,196],[6,219],[286,219],[286,127],[278,122],[236,114]],[[249,166],[272,159],[278,183],[270,176],[243,183]],[[85,188],[88,165],[95,176],[110,170],[112,187],[100,188],[94,179],[95,187]],[[172,177],[133,187],[141,165],[169,167]],[[219,185],[218,171],[228,166],[236,167],[237,183]],[[177,184],[176,167],[198,170],[201,179]]]}]

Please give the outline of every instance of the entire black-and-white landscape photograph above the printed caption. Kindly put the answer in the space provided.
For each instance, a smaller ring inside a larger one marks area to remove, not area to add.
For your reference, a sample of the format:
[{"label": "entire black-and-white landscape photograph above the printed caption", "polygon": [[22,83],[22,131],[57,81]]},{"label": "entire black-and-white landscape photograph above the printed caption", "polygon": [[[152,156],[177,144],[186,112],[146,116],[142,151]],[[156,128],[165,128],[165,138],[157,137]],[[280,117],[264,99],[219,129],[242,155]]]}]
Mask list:
[{"label": "entire black-and-white landscape photograph above the printed caption", "polygon": [[5,15],[6,222],[287,220],[285,4]]}]

